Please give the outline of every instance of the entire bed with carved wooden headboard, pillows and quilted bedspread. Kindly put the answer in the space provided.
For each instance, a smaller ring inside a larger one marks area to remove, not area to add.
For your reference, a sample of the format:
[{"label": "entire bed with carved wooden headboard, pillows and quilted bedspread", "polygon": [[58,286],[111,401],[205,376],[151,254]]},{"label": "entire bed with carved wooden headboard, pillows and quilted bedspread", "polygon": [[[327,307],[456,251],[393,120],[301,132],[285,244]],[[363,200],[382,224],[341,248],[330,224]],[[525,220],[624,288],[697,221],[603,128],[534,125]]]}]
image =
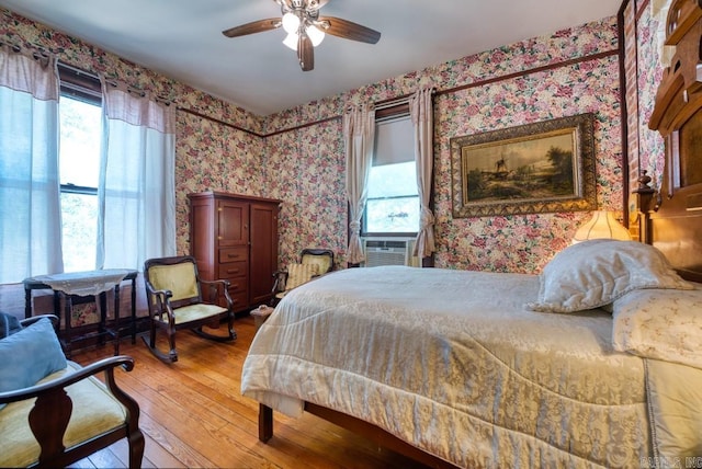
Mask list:
[{"label": "entire bed with carved wooden headboard, pillows and quilted bedspread", "polygon": [[[700,41],[692,3],[671,8],[680,43]],[[273,410],[312,412],[432,467],[700,467],[702,99],[680,62],[652,118],[667,174],[637,191],[645,242],[575,244],[539,275],[349,268],[296,288],[244,365],[260,439]]]}]

